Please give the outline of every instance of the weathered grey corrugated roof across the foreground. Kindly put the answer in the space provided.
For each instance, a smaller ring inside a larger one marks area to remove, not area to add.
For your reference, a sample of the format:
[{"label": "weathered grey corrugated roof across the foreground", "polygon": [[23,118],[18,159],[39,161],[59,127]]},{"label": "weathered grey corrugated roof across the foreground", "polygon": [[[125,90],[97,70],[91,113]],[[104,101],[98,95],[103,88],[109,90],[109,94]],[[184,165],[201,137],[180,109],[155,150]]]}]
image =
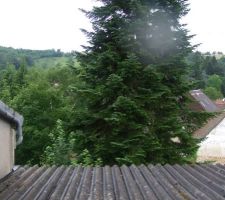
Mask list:
[{"label": "weathered grey corrugated roof across the foreground", "polygon": [[222,200],[223,165],[19,167],[0,181],[1,200]]}]

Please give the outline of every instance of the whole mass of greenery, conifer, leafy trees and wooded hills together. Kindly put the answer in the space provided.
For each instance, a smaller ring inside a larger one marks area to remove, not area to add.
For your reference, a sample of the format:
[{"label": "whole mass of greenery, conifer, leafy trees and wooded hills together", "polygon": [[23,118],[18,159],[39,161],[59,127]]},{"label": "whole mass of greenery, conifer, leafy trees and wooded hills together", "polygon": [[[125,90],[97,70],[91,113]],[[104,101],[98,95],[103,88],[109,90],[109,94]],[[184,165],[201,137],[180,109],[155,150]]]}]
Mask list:
[{"label": "whole mass of greenery, conifer, leafy trees and wooded hills together", "polygon": [[222,59],[185,60],[185,0],[101,2],[85,12],[93,32],[79,65],[60,51],[0,48],[0,99],[25,118],[17,164],[189,162],[207,116],[187,109],[187,93],[224,94]]}]

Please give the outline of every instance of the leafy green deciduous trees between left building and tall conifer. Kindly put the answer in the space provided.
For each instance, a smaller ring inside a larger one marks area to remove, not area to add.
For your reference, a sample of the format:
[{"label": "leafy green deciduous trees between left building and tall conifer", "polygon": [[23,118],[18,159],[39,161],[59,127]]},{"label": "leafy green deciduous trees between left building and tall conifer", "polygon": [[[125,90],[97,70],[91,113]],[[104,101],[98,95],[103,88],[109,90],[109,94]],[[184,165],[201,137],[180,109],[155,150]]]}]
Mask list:
[{"label": "leafy green deciduous trees between left building and tall conifer", "polygon": [[17,149],[17,163],[40,163],[51,143],[50,133],[58,119],[68,123],[73,106],[70,84],[76,82],[69,66],[26,69],[8,67],[1,71],[0,97],[23,114],[24,141]]}]

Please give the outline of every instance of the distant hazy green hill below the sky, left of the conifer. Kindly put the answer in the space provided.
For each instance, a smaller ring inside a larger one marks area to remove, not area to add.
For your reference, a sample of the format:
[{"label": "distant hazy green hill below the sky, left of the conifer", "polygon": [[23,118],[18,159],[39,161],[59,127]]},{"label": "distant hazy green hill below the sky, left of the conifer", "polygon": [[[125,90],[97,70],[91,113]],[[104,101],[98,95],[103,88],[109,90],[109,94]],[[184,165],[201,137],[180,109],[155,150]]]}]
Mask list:
[{"label": "distant hazy green hill below the sky, left of the conifer", "polygon": [[62,64],[71,57],[70,53],[54,49],[30,50],[0,46],[0,69],[4,69],[8,65],[14,65],[18,68],[24,62],[28,66],[50,67]]}]

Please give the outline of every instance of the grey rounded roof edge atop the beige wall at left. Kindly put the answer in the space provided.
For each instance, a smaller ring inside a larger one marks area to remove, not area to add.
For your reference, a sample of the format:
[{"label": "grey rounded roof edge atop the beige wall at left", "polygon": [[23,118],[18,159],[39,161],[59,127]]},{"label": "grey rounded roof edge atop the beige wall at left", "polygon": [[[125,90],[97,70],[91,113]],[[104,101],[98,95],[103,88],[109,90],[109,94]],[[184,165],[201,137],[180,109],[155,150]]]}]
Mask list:
[{"label": "grey rounded roof edge atop the beige wall at left", "polygon": [[23,126],[23,116],[15,112],[13,109],[9,108],[2,101],[0,101],[0,118],[16,125],[16,141],[17,145],[23,140],[22,126]]}]

